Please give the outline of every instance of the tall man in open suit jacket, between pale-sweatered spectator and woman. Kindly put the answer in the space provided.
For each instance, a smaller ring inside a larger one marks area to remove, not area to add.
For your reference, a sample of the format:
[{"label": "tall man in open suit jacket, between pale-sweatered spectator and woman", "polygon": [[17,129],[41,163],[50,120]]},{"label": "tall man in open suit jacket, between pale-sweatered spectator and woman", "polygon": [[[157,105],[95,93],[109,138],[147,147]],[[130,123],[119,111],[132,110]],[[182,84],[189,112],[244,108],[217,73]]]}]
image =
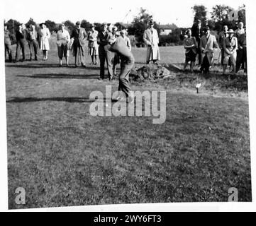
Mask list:
[{"label": "tall man in open suit jacket, between pale-sweatered spectator and woman", "polygon": [[81,22],[77,21],[76,28],[72,31],[70,38],[74,38],[73,42],[73,54],[74,54],[74,66],[78,66],[79,61],[81,65],[85,67],[84,59],[84,44],[87,38],[87,32],[84,28],[81,28]]}]

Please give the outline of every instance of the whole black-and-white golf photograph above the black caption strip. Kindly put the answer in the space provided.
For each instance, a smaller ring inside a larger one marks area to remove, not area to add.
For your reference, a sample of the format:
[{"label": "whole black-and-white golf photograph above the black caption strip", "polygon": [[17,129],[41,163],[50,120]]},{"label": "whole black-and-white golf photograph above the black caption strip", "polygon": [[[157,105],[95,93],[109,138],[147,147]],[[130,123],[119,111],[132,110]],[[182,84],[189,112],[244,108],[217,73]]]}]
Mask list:
[{"label": "whole black-and-white golf photograph above the black caption strip", "polygon": [[2,4],[9,210],[252,203],[246,0]]}]

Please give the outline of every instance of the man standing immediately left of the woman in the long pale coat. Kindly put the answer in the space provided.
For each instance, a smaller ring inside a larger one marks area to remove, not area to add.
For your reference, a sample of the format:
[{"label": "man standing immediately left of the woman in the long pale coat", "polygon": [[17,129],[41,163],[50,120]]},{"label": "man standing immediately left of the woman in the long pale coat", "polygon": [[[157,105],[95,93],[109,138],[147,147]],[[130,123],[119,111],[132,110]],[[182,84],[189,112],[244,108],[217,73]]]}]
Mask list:
[{"label": "man standing immediately left of the woman in the long pale coat", "polygon": [[28,47],[30,51],[30,61],[32,61],[32,56],[34,54],[35,61],[38,60],[38,32],[35,30],[35,25],[30,24],[27,33]]}]

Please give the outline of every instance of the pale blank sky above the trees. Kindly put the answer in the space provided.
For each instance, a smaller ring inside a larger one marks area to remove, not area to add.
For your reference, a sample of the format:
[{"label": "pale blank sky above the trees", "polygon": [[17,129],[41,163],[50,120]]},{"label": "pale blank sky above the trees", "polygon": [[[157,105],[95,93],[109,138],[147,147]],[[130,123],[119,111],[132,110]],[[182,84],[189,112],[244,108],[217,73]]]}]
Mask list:
[{"label": "pale blank sky above the trees", "polygon": [[[191,7],[195,4],[204,4],[211,11],[216,4],[226,4],[238,8],[246,4],[247,0],[1,0],[4,4],[4,19],[16,19],[26,23],[33,18],[36,23],[53,20],[61,23],[65,20],[75,22],[88,20],[90,23],[131,22],[138,15],[140,7],[148,9],[157,23],[175,23],[179,27],[189,27],[193,21]],[[128,14],[128,15],[127,15]]]}]

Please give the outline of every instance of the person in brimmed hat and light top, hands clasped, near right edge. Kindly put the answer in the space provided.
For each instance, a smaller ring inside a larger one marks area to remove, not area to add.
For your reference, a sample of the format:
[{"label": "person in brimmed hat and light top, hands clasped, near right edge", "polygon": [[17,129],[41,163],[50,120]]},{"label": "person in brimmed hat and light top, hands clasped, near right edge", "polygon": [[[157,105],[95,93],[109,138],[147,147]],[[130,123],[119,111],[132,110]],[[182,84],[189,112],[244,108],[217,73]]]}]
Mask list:
[{"label": "person in brimmed hat and light top, hands clasped, near right edge", "polygon": [[238,39],[234,36],[233,29],[228,30],[228,37],[224,40],[224,59],[223,59],[223,74],[225,74],[228,62],[230,61],[235,73],[236,50],[238,49]]}]

